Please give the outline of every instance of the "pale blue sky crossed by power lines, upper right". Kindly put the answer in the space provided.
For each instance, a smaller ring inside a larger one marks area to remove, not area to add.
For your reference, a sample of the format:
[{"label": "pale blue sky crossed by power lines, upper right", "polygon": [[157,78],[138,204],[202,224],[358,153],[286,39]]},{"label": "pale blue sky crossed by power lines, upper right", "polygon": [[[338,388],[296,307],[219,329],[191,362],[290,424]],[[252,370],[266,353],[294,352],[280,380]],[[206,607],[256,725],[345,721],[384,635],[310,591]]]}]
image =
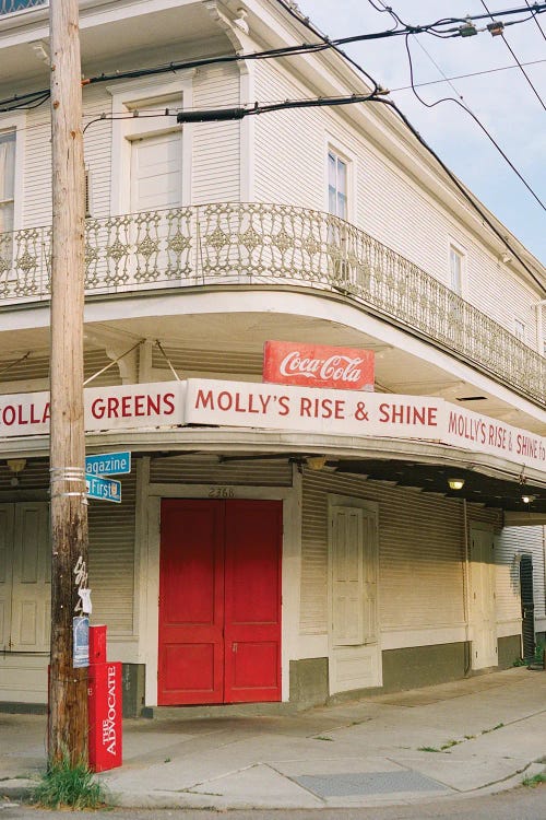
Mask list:
[{"label": "pale blue sky crossed by power lines, upper right", "polygon": [[[384,4],[408,25],[486,13],[482,0],[385,0]],[[515,17],[498,12],[526,5],[525,0],[486,0],[486,4],[503,22]],[[298,5],[330,37],[382,32],[393,26],[387,12],[372,8],[381,8],[381,0],[298,0]],[[412,35],[408,44],[416,85],[443,77],[515,67],[417,91],[429,104],[447,96],[462,97],[546,208],[546,12],[537,20],[541,27],[535,20],[527,20],[507,27],[505,36],[539,98],[503,38],[491,37],[487,31],[450,39],[418,34]],[[405,87],[411,84],[405,38],[368,40],[344,49],[391,91],[391,98],[443,162],[546,265],[546,210],[466,112],[453,102],[427,108]],[[538,60],[542,62],[524,65]]]}]

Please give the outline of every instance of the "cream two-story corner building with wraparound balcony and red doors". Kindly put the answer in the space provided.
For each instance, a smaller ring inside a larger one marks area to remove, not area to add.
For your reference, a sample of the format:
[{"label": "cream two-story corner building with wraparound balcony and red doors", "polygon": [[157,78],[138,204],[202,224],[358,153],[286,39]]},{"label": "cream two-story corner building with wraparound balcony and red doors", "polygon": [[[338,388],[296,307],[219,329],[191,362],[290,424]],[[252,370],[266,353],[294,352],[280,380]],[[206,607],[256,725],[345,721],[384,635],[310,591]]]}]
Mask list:
[{"label": "cream two-story corner building with wraparound balcony and red doors", "polygon": [[[0,10],[0,701],[28,706],[48,10]],[[86,446],[132,454],[121,503],[90,501],[90,586],[135,714],[424,686],[546,630],[539,262],[384,105],[177,120],[365,93],[333,49],[244,58],[317,39],[278,0],[81,2]],[[371,351],[375,393],[265,384],[266,341]]]}]

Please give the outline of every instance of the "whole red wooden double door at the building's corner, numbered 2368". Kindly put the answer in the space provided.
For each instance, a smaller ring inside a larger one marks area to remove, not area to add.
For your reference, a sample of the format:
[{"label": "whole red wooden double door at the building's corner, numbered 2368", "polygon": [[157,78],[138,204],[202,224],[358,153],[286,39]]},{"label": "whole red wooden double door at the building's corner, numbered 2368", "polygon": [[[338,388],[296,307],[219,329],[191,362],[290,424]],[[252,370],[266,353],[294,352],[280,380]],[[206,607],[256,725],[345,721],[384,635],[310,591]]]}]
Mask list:
[{"label": "whole red wooden double door at the building's corner, numbered 2368", "polygon": [[282,502],[162,502],[159,705],[281,700]]}]

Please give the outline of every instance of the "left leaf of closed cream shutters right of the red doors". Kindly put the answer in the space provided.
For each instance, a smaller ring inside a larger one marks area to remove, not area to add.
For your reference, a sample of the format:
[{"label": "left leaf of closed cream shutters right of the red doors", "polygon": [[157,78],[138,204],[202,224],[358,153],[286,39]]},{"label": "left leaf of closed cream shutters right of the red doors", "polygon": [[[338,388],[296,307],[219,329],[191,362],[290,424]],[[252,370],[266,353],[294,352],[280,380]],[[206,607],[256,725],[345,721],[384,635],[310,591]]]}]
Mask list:
[{"label": "left leaf of closed cream shutters right of the red doors", "polygon": [[332,507],[332,644],[364,643],[363,514],[354,507]]}]

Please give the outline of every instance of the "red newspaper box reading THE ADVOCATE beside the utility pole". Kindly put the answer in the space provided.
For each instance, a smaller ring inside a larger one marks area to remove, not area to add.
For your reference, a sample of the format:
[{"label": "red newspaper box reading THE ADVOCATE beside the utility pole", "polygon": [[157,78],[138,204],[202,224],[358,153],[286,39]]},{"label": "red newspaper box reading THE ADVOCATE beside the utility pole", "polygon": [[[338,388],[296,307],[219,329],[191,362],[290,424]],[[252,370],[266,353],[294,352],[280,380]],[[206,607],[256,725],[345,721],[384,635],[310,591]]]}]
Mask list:
[{"label": "red newspaper box reading THE ADVOCATE beside the utility pole", "polygon": [[[98,632],[94,641],[93,630]],[[90,668],[87,678],[88,706],[88,752],[90,769],[104,772],[116,769],[122,762],[122,730],[121,730],[121,664],[106,660],[104,626],[90,626]],[[93,663],[92,646],[103,648],[105,659]]]}]

